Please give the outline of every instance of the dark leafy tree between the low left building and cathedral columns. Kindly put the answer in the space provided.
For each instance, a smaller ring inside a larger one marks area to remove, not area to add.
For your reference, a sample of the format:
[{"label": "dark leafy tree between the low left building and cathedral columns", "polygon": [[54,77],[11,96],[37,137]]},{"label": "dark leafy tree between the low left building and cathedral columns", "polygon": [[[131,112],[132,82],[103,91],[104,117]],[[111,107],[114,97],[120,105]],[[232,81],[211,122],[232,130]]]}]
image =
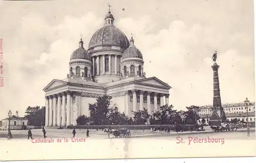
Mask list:
[{"label": "dark leafy tree between the low left building and cathedral columns", "polygon": [[32,126],[45,125],[45,106],[28,106],[25,112],[25,117],[28,119],[28,124]]}]

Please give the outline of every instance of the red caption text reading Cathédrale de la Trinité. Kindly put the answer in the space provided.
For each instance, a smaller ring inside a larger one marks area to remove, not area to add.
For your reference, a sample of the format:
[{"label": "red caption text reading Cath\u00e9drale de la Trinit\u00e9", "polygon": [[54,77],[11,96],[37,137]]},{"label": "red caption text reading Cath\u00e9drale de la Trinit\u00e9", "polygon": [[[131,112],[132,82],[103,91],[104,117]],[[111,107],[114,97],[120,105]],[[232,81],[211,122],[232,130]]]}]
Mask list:
[{"label": "red caption text reading Cath\u00e9drale de la Trinit\u00e9", "polygon": [[73,143],[81,143],[81,142],[86,142],[86,138],[57,138],[57,139],[31,139],[32,143],[68,143],[68,142],[73,142]]}]

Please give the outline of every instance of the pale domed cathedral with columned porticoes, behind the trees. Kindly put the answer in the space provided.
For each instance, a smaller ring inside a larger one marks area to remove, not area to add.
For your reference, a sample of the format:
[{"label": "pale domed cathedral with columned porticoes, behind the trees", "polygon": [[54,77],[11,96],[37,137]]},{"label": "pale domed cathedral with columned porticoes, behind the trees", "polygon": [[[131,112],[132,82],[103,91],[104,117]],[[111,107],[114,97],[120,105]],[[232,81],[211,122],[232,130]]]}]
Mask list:
[{"label": "pale domed cathedral with columned porticoes, behind the trees", "polygon": [[82,39],[70,57],[69,73],[53,79],[45,88],[45,126],[76,125],[80,115],[90,116],[89,103],[103,95],[112,96],[111,106],[132,117],[132,111],[146,108],[152,114],[169,101],[168,84],[157,77],[146,78],[143,56],[106,14],[86,50]]}]

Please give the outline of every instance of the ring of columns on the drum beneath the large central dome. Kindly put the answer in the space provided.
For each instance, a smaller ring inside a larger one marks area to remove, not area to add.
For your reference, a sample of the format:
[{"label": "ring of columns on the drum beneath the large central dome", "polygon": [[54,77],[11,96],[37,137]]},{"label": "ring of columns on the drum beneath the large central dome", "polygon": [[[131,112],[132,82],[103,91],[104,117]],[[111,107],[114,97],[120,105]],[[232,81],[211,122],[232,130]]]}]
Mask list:
[{"label": "ring of columns on the drum beneath the large central dome", "polygon": [[[115,58],[114,60],[114,73],[111,72],[111,66],[112,66],[112,57]],[[100,62],[100,58],[102,58],[102,63]],[[108,58],[108,60],[105,60],[106,58]],[[119,60],[119,62],[117,62],[117,59]],[[117,75],[118,74],[118,69],[119,69],[119,73],[121,72],[121,60],[122,57],[119,55],[113,55],[113,54],[108,54],[108,55],[98,55],[98,56],[93,56],[92,57],[92,62],[93,62],[93,76],[96,75]],[[100,66],[102,64],[102,66]],[[108,69],[106,69],[106,64],[108,64]],[[102,71],[102,72],[101,72]]]}]

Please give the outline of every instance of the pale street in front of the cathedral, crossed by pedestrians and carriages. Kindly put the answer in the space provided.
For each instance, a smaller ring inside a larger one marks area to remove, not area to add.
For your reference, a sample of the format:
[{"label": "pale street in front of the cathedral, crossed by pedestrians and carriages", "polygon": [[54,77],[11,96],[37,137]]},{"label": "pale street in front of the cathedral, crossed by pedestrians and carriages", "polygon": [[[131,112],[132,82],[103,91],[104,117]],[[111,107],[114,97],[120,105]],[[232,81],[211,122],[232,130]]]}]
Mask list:
[{"label": "pale street in front of the cathedral, crossed by pedestrians and carriages", "polygon": [[[38,139],[43,138],[41,129],[32,129],[32,138]],[[251,139],[255,140],[255,129],[251,129],[250,137],[247,138],[246,129],[238,129],[237,131],[226,131],[226,132],[212,132],[212,131],[185,131],[185,132],[157,132],[150,130],[131,130],[131,138],[155,138],[155,139],[174,139],[176,137],[205,137],[205,135],[211,135],[213,137],[221,137],[230,140],[244,140]],[[27,139],[28,130],[12,130],[13,139]],[[46,129],[47,138],[71,138],[72,129]],[[86,137],[86,129],[76,129],[76,137]],[[0,139],[7,138],[7,131],[0,131]],[[110,138],[113,138],[113,135],[110,134]],[[131,138],[118,138],[118,139],[131,139]],[[109,139],[106,132],[91,129],[90,130],[90,139]]]}]

